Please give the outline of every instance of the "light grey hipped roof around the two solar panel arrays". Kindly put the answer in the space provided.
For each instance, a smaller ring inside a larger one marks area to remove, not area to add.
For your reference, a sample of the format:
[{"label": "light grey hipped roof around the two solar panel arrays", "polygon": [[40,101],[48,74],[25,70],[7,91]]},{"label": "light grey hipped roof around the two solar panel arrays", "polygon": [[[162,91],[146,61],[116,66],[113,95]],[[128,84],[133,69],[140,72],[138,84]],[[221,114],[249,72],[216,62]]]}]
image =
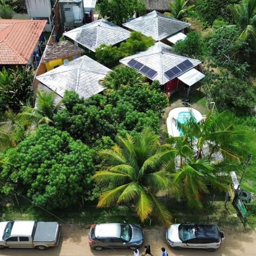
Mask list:
[{"label": "light grey hipped roof around the two solar panel arrays", "polygon": [[[146,51],[139,52],[132,56],[123,58],[122,60],[120,60],[120,62],[130,67],[128,62],[132,59],[140,62],[143,66],[145,65],[149,67],[151,70],[155,70],[156,75],[154,76],[154,78],[151,78],[147,74],[146,76],[151,80],[158,80],[160,84],[165,84],[168,81],[170,81],[170,79],[164,73],[173,67],[177,67],[177,65],[179,65],[180,63],[186,60],[189,60],[192,65],[188,69],[183,70],[181,73],[177,74],[176,77],[186,73],[188,70],[196,67],[201,63],[201,61],[199,60],[191,59],[191,58],[181,56],[177,53],[172,52],[172,47],[162,42],[155,43],[153,46],[149,47],[149,49]],[[145,73],[140,71],[140,69],[139,70],[137,69],[137,70],[142,75],[145,75]]]}]

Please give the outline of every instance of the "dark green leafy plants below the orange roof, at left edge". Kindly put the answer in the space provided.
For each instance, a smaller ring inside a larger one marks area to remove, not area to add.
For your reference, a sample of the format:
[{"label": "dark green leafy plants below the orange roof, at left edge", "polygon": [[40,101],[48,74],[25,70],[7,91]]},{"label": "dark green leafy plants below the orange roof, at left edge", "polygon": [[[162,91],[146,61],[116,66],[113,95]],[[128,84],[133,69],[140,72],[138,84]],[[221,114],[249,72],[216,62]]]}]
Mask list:
[{"label": "dark green leafy plants below the orange roof, at left edge", "polygon": [[0,111],[4,112],[9,107],[18,113],[20,107],[34,97],[31,89],[33,78],[34,70],[3,68],[0,72]]}]

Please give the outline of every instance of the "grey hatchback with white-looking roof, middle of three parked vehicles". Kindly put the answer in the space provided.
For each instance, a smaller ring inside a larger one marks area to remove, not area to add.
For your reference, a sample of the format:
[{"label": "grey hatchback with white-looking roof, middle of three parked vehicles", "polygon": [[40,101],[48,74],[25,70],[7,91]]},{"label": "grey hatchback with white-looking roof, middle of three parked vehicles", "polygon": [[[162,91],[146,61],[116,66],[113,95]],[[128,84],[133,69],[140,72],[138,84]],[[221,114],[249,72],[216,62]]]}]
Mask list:
[{"label": "grey hatchback with white-looking roof, middle of three parked vehicles", "polygon": [[89,232],[89,245],[97,251],[114,247],[135,250],[142,245],[143,240],[143,230],[136,224],[92,224]]}]

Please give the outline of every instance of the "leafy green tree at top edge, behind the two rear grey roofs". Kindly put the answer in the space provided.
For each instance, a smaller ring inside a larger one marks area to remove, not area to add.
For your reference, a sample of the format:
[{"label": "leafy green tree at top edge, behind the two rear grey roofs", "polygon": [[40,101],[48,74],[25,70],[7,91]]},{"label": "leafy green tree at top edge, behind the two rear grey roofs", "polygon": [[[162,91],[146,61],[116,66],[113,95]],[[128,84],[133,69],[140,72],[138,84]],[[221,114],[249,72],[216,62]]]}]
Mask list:
[{"label": "leafy green tree at top edge, behind the two rear grey roofs", "polygon": [[144,13],[146,5],[143,0],[101,0],[98,3],[98,10],[103,18],[106,17],[121,26],[133,16],[134,12]]}]

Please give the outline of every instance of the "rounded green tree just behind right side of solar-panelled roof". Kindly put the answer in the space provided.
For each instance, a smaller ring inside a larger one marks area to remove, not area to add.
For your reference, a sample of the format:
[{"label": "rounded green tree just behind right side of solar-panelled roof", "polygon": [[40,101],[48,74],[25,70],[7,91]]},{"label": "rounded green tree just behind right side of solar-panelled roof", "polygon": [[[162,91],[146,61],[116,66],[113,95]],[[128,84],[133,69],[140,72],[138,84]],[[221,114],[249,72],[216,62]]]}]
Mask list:
[{"label": "rounded green tree just behind right side of solar-panelled roof", "polygon": [[196,31],[191,31],[187,34],[187,38],[173,45],[174,52],[194,58],[204,55],[205,49],[203,38]]}]

